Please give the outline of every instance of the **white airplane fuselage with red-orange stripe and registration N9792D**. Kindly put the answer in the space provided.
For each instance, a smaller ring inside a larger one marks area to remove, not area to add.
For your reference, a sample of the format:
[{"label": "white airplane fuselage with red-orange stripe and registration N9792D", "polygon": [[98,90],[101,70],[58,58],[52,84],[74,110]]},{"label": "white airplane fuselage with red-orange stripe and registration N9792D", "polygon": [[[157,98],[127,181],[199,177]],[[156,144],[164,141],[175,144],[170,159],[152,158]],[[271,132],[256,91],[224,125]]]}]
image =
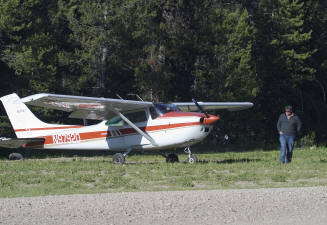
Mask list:
[{"label": "white airplane fuselage with red-orange stripe and registration N9792D", "polygon": [[42,143],[25,147],[67,150],[124,151],[129,147],[142,150],[160,150],[186,147],[202,141],[212,130],[217,116],[181,112],[178,108],[154,104],[142,111],[124,113],[133,124],[147,133],[153,145],[120,117],[113,117],[90,126],[55,125],[46,128],[15,130],[21,137],[42,137]]}]

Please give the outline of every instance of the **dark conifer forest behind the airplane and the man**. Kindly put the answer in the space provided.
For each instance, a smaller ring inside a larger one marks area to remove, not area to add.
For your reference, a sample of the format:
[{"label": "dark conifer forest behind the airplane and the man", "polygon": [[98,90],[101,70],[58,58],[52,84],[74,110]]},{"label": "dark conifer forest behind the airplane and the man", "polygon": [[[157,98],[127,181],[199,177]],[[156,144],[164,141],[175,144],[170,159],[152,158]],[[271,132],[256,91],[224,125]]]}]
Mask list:
[{"label": "dark conifer forest behind the airplane and the man", "polygon": [[[210,112],[221,120],[207,141],[264,147],[292,105],[299,139],[326,144],[327,1],[0,0],[0,96],[13,92],[253,102]],[[13,135],[1,105],[0,136]]]}]

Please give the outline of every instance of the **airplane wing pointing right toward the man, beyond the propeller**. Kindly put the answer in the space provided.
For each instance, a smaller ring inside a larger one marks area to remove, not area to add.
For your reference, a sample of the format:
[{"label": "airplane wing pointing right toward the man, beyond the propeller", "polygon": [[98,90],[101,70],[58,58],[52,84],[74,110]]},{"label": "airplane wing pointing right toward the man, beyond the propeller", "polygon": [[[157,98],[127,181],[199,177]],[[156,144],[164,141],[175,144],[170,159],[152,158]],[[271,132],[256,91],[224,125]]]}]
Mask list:
[{"label": "airplane wing pointing right toward the man, beyond the propeller", "polygon": [[[237,111],[248,109],[253,106],[251,102],[198,102],[204,110],[222,110]],[[182,111],[199,111],[199,108],[193,102],[174,102],[172,103]]]}]

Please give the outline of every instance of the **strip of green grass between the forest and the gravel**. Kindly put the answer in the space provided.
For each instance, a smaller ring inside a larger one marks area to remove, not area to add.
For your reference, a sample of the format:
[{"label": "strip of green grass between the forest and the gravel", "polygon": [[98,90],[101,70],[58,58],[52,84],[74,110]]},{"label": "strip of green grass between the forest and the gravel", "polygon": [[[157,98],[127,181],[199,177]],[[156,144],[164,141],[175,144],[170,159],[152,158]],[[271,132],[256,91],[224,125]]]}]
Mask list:
[{"label": "strip of green grass between the forest and the gravel", "polygon": [[[202,160],[167,164],[136,154],[114,165],[110,156],[0,159],[0,197],[123,191],[203,190],[327,185],[327,148],[295,149],[291,164],[279,151],[197,153]],[[179,155],[187,159],[186,154]]]}]

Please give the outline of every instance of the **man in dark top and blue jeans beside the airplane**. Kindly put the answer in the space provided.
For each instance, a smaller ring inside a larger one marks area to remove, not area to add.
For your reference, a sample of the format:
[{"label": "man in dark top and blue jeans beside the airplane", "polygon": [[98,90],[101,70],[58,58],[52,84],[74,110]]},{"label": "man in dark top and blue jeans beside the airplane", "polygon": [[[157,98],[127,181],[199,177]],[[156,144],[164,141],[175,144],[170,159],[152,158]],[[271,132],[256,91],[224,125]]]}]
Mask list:
[{"label": "man in dark top and blue jeans beside the airplane", "polygon": [[[280,162],[290,163],[293,155],[294,139],[300,132],[302,122],[300,118],[293,113],[293,107],[285,106],[285,113],[279,116],[277,130],[279,132],[280,142]],[[288,151],[286,151],[288,149]]]}]

